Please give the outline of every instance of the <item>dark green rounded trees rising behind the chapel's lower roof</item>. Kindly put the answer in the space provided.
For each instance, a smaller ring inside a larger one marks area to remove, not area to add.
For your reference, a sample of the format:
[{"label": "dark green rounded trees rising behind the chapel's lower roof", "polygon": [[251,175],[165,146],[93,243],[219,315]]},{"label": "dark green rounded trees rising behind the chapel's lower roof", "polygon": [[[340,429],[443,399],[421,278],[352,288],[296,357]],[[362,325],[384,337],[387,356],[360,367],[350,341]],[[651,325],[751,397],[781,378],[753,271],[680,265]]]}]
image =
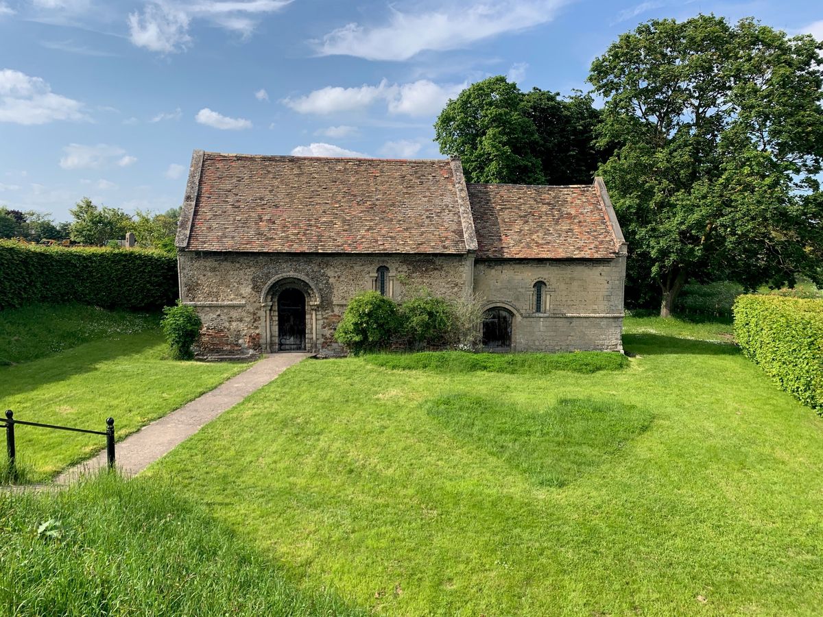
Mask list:
[{"label": "dark green rounded trees rising behind the chapel's lower roof", "polygon": [[523,93],[503,76],[489,77],[449,101],[435,141],[444,154],[460,156],[468,182],[590,183],[611,154],[593,145],[598,117],[588,96]]}]

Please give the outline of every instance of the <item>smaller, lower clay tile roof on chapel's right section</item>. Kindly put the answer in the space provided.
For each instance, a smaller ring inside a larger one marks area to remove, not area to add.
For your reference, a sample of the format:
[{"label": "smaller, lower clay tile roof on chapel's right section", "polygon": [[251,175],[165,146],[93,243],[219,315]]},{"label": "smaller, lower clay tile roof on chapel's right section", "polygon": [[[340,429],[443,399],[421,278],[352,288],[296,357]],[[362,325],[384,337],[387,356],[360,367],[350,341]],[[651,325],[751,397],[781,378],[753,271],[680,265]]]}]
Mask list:
[{"label": "smaller, lower clay tile roof on chapel's right section", "polygon": [[597,183],[467,188],[478,258],[611,258],[621,250],[619,225],[612,225]]}]

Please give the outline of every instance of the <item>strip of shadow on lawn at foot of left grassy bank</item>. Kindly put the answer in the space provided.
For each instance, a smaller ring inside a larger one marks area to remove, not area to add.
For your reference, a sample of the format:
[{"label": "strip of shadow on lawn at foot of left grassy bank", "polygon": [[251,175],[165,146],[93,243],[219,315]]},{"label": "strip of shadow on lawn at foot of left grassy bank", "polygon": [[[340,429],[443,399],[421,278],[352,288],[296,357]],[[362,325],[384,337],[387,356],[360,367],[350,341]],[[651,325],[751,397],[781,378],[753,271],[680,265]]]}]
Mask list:
[{"label": "strip of shadow on lawn at foot of left grassy bank", "polygon": [[122,336],[117,341],[91,341],[39,360],[0,367],[0,395],[12,397],[80,373],[89,373],[101,362],[139,354],[161,340],[157,332],[140,332]]}]

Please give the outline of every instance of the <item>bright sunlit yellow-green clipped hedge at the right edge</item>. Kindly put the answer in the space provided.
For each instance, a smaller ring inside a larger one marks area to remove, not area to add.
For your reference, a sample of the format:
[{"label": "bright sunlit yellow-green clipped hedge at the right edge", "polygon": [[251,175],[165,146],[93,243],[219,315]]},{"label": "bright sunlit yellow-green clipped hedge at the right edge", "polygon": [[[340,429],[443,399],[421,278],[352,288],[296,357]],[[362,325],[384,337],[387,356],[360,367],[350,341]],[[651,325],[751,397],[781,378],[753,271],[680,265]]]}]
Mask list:
[{"label": "bright sunlit yellow-green clipped hedge at the right edge", "polygon": [[823,415],[823,300],[739,296],[734,336],[783,390]]}]

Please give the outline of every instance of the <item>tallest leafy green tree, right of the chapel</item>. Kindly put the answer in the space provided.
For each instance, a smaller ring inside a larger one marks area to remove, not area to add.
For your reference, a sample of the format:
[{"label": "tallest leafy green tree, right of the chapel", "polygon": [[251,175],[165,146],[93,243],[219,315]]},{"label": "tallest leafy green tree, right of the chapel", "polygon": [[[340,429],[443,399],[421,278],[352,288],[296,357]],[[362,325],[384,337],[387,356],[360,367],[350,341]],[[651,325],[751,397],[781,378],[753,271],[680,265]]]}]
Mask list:
[{"label": "tallest leafy green tree, right of the chapel", "polygon": [[671,314],[689,280],[823,283],[820,50],[751,19],[653,20],[591,69],[630,285]]}]

